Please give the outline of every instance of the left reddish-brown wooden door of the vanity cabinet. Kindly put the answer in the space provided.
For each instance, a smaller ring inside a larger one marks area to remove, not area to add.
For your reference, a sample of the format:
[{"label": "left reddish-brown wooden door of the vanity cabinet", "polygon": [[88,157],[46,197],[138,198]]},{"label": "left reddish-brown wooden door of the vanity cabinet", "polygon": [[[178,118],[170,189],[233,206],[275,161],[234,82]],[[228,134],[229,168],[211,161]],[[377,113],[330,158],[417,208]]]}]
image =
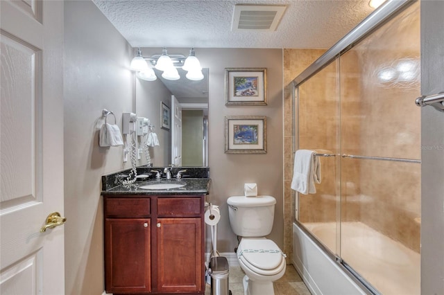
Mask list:
[{"label": "left reddish-brown wooden door of the vanity cabinet", "polygon": [[105,220],[106,292],[151,292],[149,219]]}]

